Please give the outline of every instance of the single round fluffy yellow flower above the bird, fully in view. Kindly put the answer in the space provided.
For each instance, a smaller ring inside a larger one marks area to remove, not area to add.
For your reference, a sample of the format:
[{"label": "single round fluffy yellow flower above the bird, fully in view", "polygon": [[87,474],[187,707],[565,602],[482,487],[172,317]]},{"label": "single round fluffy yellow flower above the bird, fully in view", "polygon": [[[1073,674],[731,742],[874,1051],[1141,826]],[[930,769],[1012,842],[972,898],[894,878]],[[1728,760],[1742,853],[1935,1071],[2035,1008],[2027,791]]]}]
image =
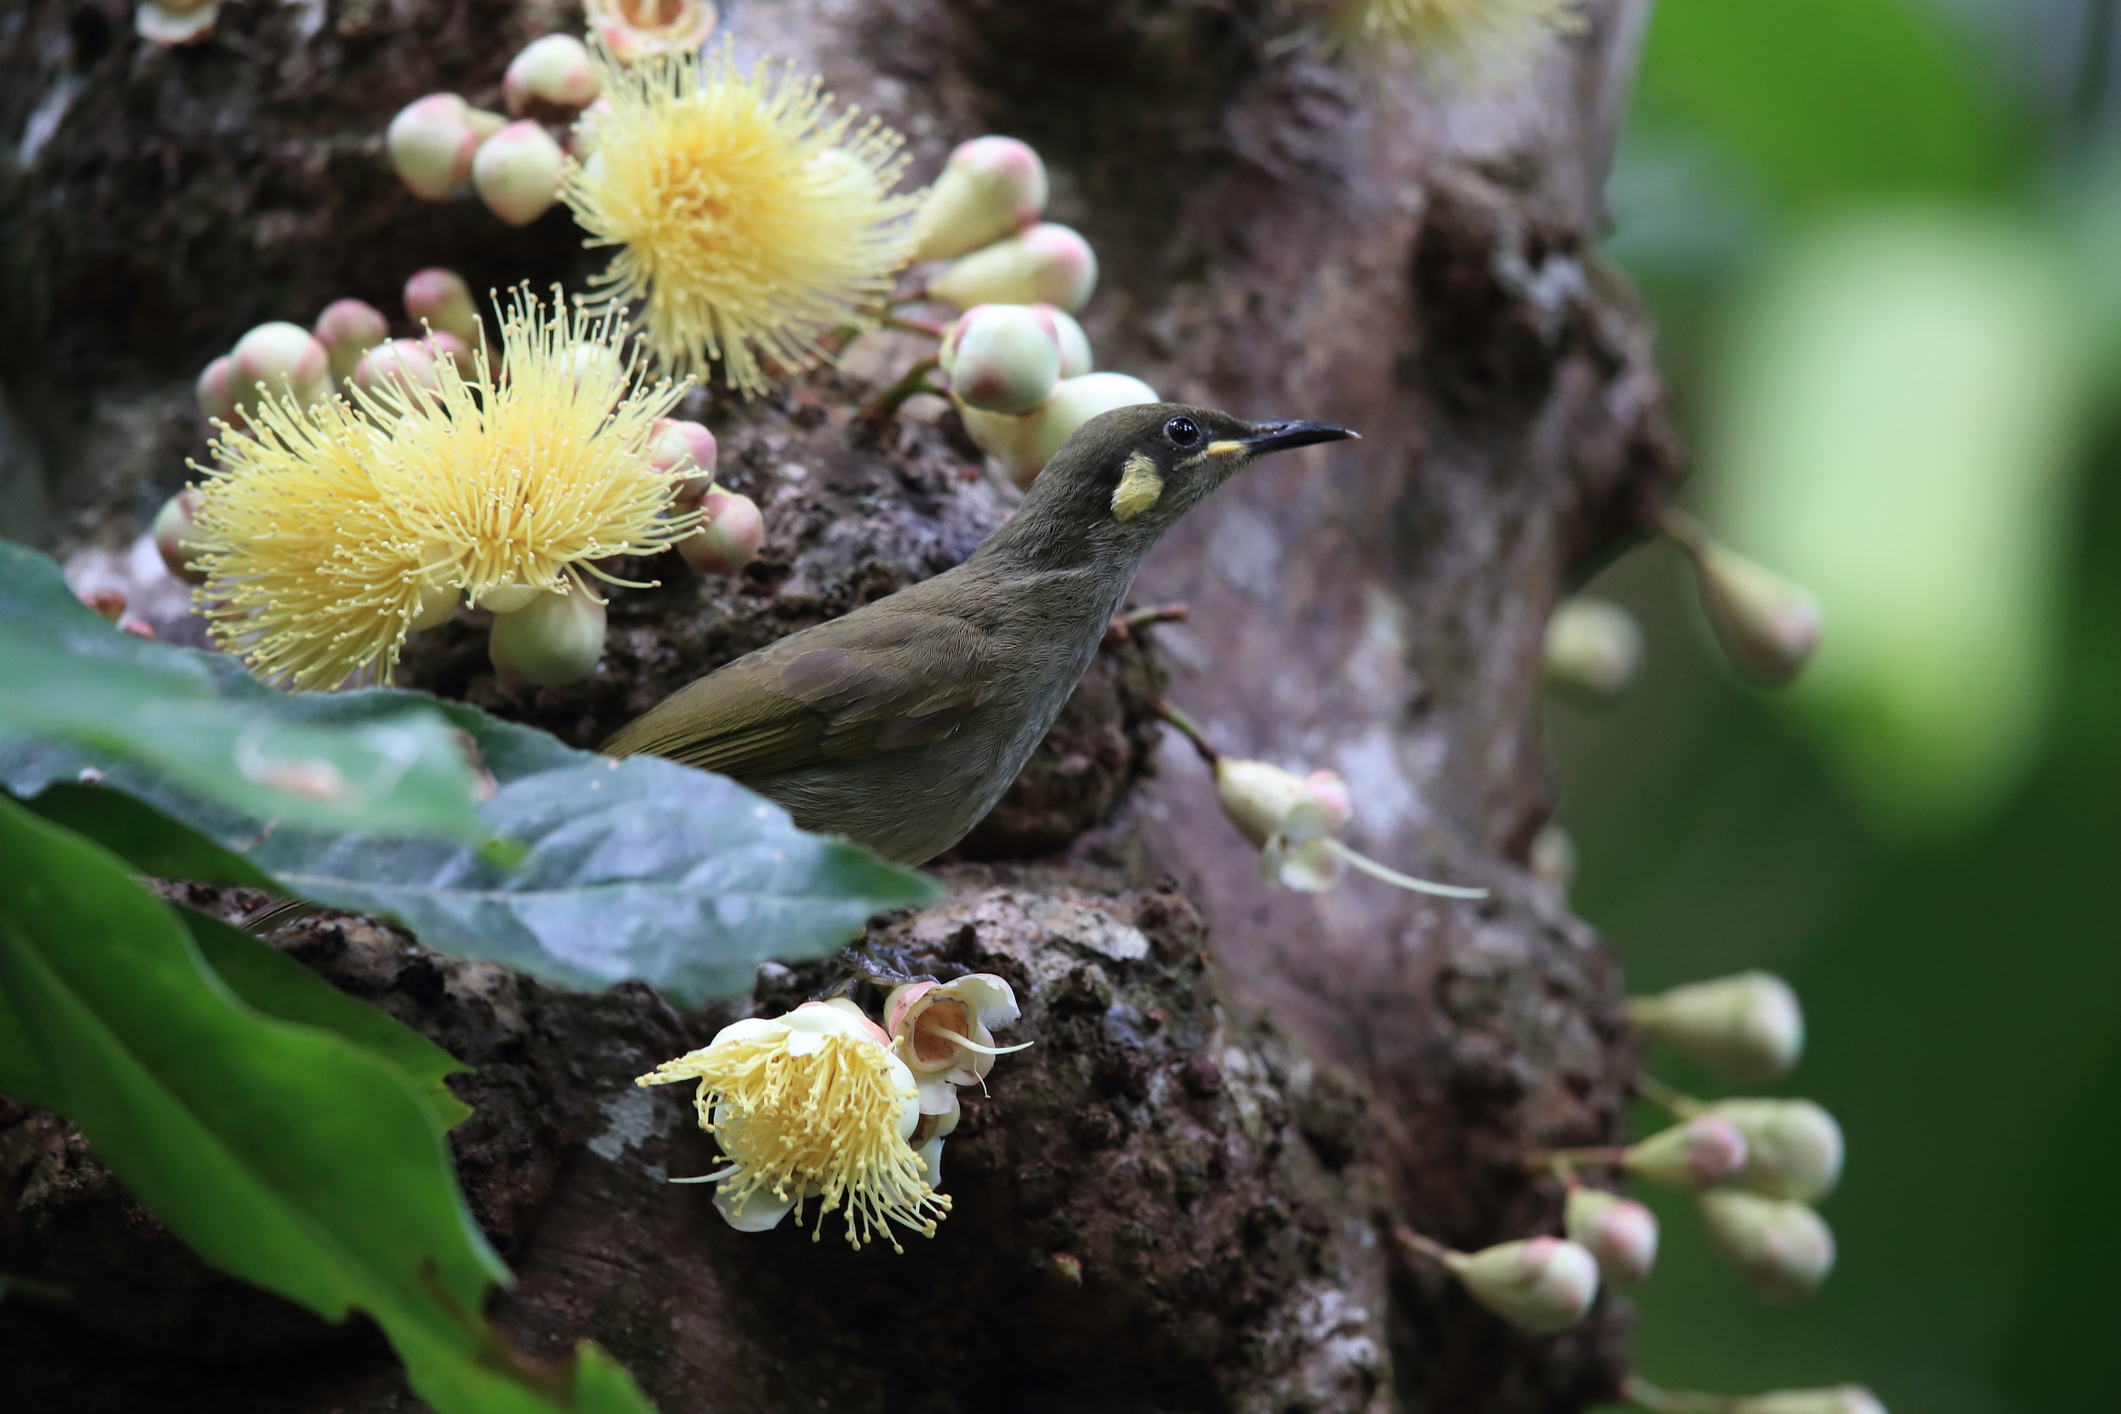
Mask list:
[{"label": "single round fluffy yellow flower above the bird, fully in view", "polygon": [[867,324],[912,250],[918,195],[889,195],[906,165],[899,136],[855,110],[831,112],[817,78],[761,59],[736,72],[706,57],[602,59],[607,112],[562,199],[617,246],[598,284],[643,301],[649,348],[679,371],[721,363],[732,386],[766,390],[759,358],[806,369],[819,335]]}]

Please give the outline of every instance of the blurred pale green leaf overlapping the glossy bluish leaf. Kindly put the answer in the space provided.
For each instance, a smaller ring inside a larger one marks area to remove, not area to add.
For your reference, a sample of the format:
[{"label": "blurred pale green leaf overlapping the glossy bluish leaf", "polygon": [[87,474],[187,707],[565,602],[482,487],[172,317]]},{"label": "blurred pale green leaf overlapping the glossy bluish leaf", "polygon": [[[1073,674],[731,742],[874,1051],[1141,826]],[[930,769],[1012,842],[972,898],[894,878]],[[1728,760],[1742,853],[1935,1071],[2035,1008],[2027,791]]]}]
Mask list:
[{"label": "blurred pale green leaf overlapping the glossy bluish leaf", "polygon": [[479,837],[471,763],[416,697],[348,712],[233,659],[121,634],[0,543],[0,725],[146,765],[259,820]]}]

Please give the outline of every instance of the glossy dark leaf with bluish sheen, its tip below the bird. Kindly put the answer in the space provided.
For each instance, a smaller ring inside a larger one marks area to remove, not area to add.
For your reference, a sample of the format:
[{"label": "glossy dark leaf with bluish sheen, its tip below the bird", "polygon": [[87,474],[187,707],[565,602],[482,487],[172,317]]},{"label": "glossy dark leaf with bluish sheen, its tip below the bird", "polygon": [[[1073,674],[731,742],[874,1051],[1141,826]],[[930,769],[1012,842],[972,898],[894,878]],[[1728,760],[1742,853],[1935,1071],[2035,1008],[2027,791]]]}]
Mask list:
[{"label": "glossy dark leaf with bluish sheen, its tip below the bird", "polygon": [[[66,596],[51,562],[6,553],[0,545],[0,617],[13,613],[11,602]],[[36,583],[19,591],[15,581]],[[297,820],[267,827],[189,780],[34,738],[0,740],[0,786],[36,795],[85,767],[100,770],[102,789],[127,791],[182,820],[288,892],[388,914],[441,952],[568,986],[641,979],[689,1001],[734,996],[749,990],[759,962],[825,956],[874,914],[940,899],[927,876],[844,839],[808,835],[785,810],[723,776],[573,750],[543,731],[422,693],[282,697],[227,657],[144,647],[191,664],[231,700],[265,693],[291,704],[312,727],[439,708],[473,740],[498,786],[477,810],[486,844]]]}]

